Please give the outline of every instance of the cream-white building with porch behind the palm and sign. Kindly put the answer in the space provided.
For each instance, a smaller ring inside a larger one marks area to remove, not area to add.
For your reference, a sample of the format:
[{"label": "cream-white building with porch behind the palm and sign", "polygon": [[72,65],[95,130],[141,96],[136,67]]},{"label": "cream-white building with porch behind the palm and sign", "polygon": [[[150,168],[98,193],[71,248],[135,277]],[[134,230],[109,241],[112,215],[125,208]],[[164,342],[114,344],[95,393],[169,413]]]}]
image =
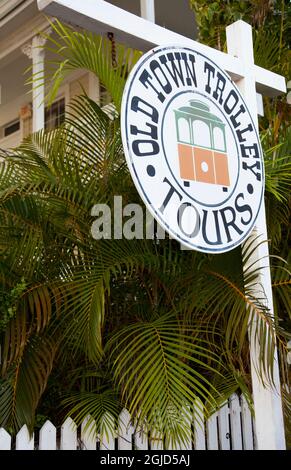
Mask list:
[{"label": "cream-white building with porch behind the palm and sign", "polygon": [[[144,0],[112,0],[109,3],[136,15],[148,14],[144,11]],[[151,14],[155,15],[157,24],[195,38],[195,20],[188,0],[157,0],[155,12]],[[102,85],[93,74],[84,71],[72,73],[65,80],[50,108],[45,107],[42,93],[37,91],[33,96],[31,85],[25,84],[29,78],[25,70],[33,64],[35,70],[42,69],[45,57],[37,47],[42,41],[37,33],[47,30],[48,26],[36,0],[1,0],[0,148],[15,147],[32,131],[43,127],[52,129],[60,124],[70,99],[81,93],[80,85],[91,98],[102,104]]]}]

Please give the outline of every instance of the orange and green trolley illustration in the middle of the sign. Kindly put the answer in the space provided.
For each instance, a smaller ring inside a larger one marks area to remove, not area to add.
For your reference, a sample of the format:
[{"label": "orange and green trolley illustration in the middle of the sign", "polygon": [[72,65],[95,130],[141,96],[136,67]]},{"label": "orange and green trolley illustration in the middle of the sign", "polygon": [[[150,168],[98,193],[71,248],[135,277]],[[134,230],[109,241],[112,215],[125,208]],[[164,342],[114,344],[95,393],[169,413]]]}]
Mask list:
[{"label": "orange and green trolley illustration in the middle of the sign", "polygon": [[189,106],[174,112],[180,177],[184,186],[199,181],[220,185],[223,191],[228,191],[225,124],[198,100],[190,100]]}]

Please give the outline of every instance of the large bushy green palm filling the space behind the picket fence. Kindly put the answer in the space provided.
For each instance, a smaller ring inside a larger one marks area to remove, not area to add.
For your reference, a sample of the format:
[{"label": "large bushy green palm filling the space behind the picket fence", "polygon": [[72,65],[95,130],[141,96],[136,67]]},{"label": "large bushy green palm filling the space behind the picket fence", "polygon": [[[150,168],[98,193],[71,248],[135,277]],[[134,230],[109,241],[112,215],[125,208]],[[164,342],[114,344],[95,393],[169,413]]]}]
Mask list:
[{"label": "large bushy green palm filling the space behind the picket fence", "polygon": [[[48,99],[67,72],[85,68],[106,85],[115,108],[101,109],[83,94],[61,128],[1,153],[0,426],[32,429],[36,415],[56,421],[64,413],[78,422],[90,413],[100,426],[104,413],[117,418],[127,407],[148,429],[183,441],[181,410],[197,399],[206,416],[236,390],[251,405],[250,325],[272,380],[275,336],[286,348],[278,319],[282,306],[290,315],[288,272],[280,259],[273,320],[254,295],[256,269],[243,274],[260,240],[213,256],[181,251],[168,237],[92,237],[96,203],[121,195],[142,205],[119,125],[125,77],[139,54],[118,46],[112,65],[109,42],[52,26]],[[267,170],[267,197],[283,207],[290,165],[282,169],[274,159]]]}]

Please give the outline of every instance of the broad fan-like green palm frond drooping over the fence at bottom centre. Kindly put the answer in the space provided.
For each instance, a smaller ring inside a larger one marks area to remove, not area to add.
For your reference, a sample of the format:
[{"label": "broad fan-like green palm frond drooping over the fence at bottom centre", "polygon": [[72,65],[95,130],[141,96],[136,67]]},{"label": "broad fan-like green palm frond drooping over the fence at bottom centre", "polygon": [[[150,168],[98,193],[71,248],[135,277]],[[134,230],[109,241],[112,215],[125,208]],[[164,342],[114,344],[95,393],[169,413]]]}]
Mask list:
[{"label": "broad fan-like green palm frond drooping over the fence at bottom centre", "polygon": [[183,326],[166,315],[125,326],[110,339],[111,367],[125,406],[150,429],[182,432],[181,410],[197,397],[205,410],[218,406],[219,391],[207,377],[227,371],[214,344],[203,339],[205,331],[199,323]]}]

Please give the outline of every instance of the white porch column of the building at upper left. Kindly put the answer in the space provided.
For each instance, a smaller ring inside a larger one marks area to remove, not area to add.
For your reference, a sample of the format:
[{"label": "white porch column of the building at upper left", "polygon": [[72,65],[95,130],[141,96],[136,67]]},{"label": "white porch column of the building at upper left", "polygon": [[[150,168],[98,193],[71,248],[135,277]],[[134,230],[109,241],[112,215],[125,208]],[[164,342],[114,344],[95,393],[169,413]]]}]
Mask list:
[{"label": "white porch column of the building at upper left", "polygon": [[[50,33],[50,28],[45,31]],[[37,86],[44,79],[44,57],[43,46],[46,38],[39,34],[32,38],[32,41],[22,47],[22,52],[32,60],[32,76],[37,82],[32,85],[32,131],[37,132],[44,129],[44,109],[45,109],[45,89],[44,86]]]}]

